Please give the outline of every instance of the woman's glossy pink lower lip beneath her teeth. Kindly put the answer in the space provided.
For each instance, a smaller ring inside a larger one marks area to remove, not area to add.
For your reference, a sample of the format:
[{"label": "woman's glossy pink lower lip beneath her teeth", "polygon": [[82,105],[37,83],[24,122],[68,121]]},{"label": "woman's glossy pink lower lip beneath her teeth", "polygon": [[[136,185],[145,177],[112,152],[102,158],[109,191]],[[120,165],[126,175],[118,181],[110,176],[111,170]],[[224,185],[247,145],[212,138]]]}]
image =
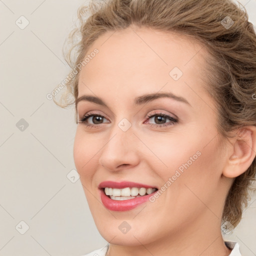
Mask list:
[{"label": "woman's glossy pink lower lip beneath her teeth", "polygon": [[[156,191],[155,191],[156,192]],[[131,210],[138,205],[142,204],[143,202],[148,201],[149,197],[153,195],[155,192],[143,196],[138,196],[128,200],[112,200],[109,198],[103,191],[100,189],[100,198],[103,205],[109,210],[116,210],[116,211],[125,211]]]}]

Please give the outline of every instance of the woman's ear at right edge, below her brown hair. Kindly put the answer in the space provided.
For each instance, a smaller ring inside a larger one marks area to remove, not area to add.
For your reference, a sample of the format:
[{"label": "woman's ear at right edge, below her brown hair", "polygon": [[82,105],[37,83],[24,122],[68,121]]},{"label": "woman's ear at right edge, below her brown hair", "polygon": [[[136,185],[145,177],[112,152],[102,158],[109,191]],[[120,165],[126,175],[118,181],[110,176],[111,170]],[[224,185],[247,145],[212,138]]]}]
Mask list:
[{"label": "woman's ear at right edge, below her brown hair", "polygon": [[243,126],[236,130],[231,145],[222,174],[234,178],[248,169],[256,155],[256,126]]}]

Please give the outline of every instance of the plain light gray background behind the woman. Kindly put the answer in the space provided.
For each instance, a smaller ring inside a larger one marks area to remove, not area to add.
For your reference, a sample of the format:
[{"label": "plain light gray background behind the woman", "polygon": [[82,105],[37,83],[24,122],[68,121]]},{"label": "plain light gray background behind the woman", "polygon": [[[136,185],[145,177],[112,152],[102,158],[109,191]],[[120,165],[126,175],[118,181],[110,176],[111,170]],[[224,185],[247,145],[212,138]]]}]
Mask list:
[{"label": "plain light gray background behind the woman", "polygon": [[[61,49],[83,2],[0,0],[0,255],[81,255],[107,243],[80,180],[67,178],[75,168],[74,110],[46,98],[69,71]],[[256,24],[256,0],[240,2]],[[15,24],[21,15],[29,21],[24,29]],[[23,131],[16,126],[21,118],[28,123]],[[29,226],[24,234],[20,221]],[[224,239],[252,256],[255,238],[254,196]]]}]

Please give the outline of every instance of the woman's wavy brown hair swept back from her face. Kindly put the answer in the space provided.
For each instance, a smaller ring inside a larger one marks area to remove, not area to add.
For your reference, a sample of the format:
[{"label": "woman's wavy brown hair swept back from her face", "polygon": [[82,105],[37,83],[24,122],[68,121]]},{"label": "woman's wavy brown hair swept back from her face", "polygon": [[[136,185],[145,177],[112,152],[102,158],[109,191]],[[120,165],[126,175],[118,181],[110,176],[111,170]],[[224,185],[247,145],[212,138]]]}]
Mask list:
[{"label": "woman's wavy brown hair swept back from her face", "polygon": [[[77,69],[89,46],[106,31],[134,24],[191,36],[206,45],[210,53],[205,58],[205,79],[218,110],[219,133],[227,138],[234,128],[256,125],[256,35],[245,8],[242,10],[231,0],[94,0],[89,6],[81,6],[77,15],[79,26],[67,37],[71,48],[64,53],[72,69]],[[53,97],[56,104],[66,107],[75,102],[78,77],[79,70],[66,82],[61,102]],[[228,220],[234,227],[239,223],[255,172],[256,158],[234,179],[222,221]]]}]

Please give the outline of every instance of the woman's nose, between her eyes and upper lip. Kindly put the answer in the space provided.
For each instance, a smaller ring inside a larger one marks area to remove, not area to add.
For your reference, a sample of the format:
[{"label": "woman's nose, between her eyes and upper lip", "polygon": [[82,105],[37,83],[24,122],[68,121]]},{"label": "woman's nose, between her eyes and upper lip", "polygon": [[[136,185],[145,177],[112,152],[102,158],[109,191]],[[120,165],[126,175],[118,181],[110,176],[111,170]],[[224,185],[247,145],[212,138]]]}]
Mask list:
[{"label": "woman's nose, between her eyes and upper lip", "polygon": [[139,140],[133,134],[132,127],[123,131],[116,125],[100,150],[99,164],[109,171],[136,166],[139,163],[138,143]]}]

